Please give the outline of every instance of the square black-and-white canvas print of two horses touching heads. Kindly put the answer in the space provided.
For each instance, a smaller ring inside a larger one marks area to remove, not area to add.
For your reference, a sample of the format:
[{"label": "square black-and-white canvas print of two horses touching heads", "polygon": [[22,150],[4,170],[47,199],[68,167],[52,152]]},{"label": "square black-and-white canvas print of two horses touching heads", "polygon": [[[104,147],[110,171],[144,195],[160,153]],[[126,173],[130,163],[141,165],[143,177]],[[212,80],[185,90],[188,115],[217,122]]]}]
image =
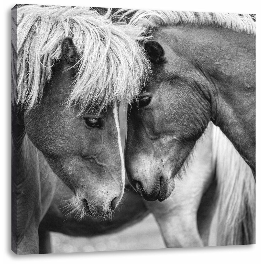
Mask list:
[{"label": "square black-and-white canvas print of two horses touching heads", "polygon": [[255,243],[253,14],[12,8],[12,251]]}]

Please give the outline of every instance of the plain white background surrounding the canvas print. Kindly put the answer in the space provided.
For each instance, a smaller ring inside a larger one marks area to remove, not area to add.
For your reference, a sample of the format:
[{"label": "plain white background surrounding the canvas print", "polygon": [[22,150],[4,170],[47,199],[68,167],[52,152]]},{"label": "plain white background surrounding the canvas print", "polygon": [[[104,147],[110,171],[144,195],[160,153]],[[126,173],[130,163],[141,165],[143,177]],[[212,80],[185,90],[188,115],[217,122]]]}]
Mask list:
[{"label": "plain white background surrounding the canvas print", "polygon": [[27,4],[58,4],[68,6],[93,6],[115,8],[140,8],[181,11],[234,12],[256,14],[257,20],[257,53],[256,53],[256,245],[176,248],[159,250],[112,251],[91,253],[67,253],[16,256],[11,251],[11,8],[17,2],[1,3],[1,263],[264,263],[263,260],[263,34],[264,9],[261,1],[118,1],[118,0],[35,0],[19,3]]}]

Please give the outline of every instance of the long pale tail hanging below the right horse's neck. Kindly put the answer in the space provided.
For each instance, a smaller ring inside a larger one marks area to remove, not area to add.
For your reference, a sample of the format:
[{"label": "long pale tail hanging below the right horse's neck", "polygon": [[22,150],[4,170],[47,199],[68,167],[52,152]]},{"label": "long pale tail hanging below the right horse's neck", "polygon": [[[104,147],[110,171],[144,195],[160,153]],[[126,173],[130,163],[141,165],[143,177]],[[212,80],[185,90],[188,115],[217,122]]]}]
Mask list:
[{"label": "long pale tail hanging below the right horse's neck", "polygon": [[254,177],[251,168],[216,126],[213,126],[213,156],[218,182],[217,246],[254,244]]}]

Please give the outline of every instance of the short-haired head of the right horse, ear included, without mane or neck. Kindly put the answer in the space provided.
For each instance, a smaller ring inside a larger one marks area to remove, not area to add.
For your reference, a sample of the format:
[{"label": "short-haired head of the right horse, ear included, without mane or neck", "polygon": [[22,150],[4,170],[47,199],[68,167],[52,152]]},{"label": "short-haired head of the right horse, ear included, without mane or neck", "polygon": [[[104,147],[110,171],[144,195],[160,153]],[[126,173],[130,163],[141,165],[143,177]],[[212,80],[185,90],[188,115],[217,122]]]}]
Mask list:
[{"label": "short-haired head of the right horse, ear included, without mane or neck", "polygon": [[125,164],[131,185],[144,199],[163,201],[209,122],[202,114],[202,122],[197,120],[197,113],[210,115],[210,104],[185,78],[186,69],[193,73],[191,65],[162,40],[161,33],[143,46],[152,63],[152,76],[129,109]]}]

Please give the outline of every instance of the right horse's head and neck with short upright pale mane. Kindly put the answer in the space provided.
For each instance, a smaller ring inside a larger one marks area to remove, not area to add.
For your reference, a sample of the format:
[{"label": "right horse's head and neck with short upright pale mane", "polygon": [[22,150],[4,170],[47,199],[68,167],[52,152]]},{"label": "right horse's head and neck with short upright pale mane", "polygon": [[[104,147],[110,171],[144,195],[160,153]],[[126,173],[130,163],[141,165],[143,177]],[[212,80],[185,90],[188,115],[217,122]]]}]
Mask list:
[{"label": "right horse's head and neck with short upright pale mane", "polygon": [[169,197],[210,120],[255,174],[254,18],[139,10],[128,23],[142,28],[138,40],[152,62],[128,115],[125,164],[136,190]]}]

